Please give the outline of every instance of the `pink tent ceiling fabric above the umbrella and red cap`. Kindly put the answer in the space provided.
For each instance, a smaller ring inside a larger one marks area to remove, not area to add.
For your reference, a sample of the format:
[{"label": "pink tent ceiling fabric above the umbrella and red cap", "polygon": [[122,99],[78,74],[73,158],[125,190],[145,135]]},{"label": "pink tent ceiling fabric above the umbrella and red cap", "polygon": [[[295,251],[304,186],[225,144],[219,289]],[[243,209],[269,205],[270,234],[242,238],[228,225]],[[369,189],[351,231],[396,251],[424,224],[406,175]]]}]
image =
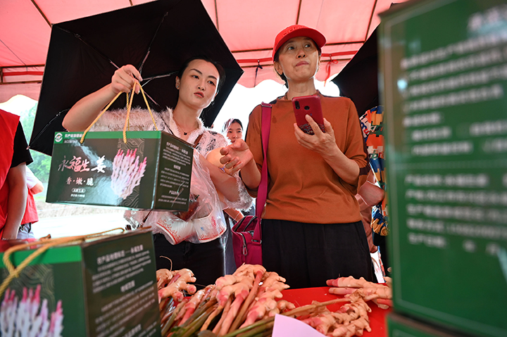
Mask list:
[{"label": "pink tent ceiling fabric above the umbrella and red cap", "polygon": [[[395,2],[403,2],[398,0]],[[0,2],[0,102],[13,87],[38,99],[51,24],[144,4],[145,0],[2,0]],[[202,0],[244,75],[239,84],[254,87],[277,80],[271,63],[275,35],[296,23],[327,38],[318,80],[337,74],[380,23],[378,13],[392,0]],[[191,14],[189,14],[190,17]],[[199,25],[199,23],[196,23]],[[258,68],[261,65],[261,68]],[[6,84],[16,83],[16,84]],[[26,86],[23,83],[27,83]],[[7,88],[9,87],[9,89]],[[24,87],[27,88],[24,91]],[[35,91],[37,92],[37,91]]]}]

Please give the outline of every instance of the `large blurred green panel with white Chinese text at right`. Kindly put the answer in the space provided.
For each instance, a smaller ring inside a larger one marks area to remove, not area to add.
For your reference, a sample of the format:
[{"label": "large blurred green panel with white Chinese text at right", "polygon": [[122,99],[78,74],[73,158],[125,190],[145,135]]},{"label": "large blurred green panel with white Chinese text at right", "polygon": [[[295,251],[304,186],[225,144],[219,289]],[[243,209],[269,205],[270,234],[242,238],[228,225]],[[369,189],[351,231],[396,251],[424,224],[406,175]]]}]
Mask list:
[{"label": "large blurred green panel with white Chinese text at right", "polygon": [[406,5],[379,40],[394,307],[507,336],[507,5]]}]

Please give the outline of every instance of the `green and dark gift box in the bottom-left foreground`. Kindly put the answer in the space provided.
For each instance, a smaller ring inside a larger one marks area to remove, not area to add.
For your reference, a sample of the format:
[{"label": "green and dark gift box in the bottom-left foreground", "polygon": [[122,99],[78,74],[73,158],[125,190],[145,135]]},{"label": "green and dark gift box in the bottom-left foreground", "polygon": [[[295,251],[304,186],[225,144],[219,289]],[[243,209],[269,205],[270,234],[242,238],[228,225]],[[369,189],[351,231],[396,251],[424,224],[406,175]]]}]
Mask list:
[{"label": "green and dark gift box in the bottom-left foreground", "polygon": [[[11,261],[18,266],[33,251],[15,252]],[[7,276],[0,258],[0,280]],[[0,301],[1,336],[159,337],[152,235],[130,231],[49,248]]]}]

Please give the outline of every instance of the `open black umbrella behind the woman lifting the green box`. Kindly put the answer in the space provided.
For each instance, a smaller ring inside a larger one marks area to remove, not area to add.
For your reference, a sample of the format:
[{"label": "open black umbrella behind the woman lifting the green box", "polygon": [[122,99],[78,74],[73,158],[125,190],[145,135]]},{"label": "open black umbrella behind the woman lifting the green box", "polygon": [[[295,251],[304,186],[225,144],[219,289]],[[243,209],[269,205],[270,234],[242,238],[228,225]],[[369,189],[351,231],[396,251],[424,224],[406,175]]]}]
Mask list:
[{"label": "open black umbrella behind the woman lifting the green box", "polygon": [[[218,61],[226,73],[215,102],[201,115],[209,127],[243,70],[200,0],[158,0],[53,25],[30,147],[51,155],[67,111],[111,83],[126,64],[141,72],[152,109],[174,108],[176,72],[187,58],[200,55]],[[125,98],[111,108],[125,107]],[[145,105],[135,95],[133,106]]]}]

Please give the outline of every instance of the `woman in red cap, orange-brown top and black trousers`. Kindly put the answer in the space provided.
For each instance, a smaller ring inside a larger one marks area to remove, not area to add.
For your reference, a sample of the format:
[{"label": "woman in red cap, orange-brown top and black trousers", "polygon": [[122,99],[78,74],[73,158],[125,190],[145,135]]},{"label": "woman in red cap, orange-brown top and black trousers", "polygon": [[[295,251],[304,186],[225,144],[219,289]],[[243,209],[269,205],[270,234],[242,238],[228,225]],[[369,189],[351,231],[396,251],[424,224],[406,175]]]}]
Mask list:
[{"label": "woman in red cap, orange-brown top and black trousers", "polygon": [[[293,25],[280,32],[273,65],[289,90],[271,102],[268,199],[263,214],[263,265],[293,288],[325,286],[338,276],[372,279],[371,258],[355,195],[369,172],[356,108],[349,98],[327,97],[315,89],[325,37]],[[325,132],[295,123],[292,98],[318,95]],[[261,181],[261,106],[253,109],[246,143],[227,146],[221,162],[241,170],[253,196]]]}]

